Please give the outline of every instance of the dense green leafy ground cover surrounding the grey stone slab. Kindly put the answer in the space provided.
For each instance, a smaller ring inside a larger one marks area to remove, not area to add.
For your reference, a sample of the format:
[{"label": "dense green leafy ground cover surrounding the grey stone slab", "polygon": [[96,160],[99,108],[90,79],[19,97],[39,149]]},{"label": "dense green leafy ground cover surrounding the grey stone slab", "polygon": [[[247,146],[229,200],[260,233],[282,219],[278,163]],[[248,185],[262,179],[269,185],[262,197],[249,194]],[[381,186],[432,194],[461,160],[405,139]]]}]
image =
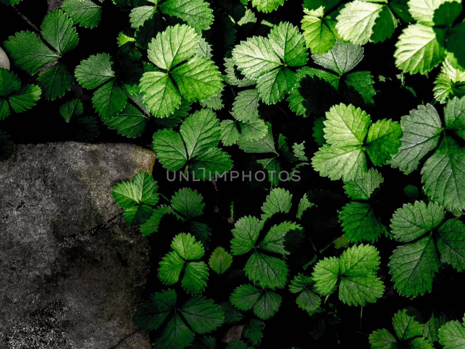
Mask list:
[{"label": "dense green leafy ground cover surrounding the grey stone slab", "polygon": [[154,348],[465,348],[460,1],[1,4],[2,160],[157,153],[112,192],[152,243]]}]

